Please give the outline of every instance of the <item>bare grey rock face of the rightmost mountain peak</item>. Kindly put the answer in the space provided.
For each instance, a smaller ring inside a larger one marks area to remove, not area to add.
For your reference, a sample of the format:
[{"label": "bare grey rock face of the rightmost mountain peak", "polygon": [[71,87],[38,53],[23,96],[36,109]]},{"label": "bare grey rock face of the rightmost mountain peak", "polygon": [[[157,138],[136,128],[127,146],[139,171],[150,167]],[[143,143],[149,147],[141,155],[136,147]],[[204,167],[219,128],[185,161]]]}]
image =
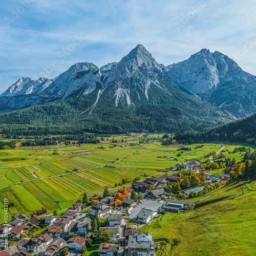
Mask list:
[{"label": "bare grey rock face of the rightmost mountain peak", "polygon": [[217,87],[219,77],[256,82],[255,77],[244,72],[234,60],[220,52],[211,53],[207,49],[167,68],[165,75],[172,82],[194,94]]}]

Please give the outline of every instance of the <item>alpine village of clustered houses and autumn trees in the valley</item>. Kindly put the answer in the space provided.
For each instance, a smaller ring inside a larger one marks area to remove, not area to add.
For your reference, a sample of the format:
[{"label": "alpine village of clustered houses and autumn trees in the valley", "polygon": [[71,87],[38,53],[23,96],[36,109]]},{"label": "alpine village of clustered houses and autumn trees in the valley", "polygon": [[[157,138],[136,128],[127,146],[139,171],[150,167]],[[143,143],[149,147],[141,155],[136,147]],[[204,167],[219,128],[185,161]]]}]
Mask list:
[{"label": "alpine village of clustered houses and autumn trees in the valley", "polygon": [[[38,209],[31,218],[14,214],[10,223],[0,226],[0,247],[5,249],[0,256],[77,256],[95,245],[99,256],[154,256],[157,245],[140,228],[159,215],[193,210],[195,204],[186,199],[207,194],[228,179],[229,175],[211,175],[192,161],[165,168],[151,178],[144,174],[142,181],[135,179],[131,187],[126,185],[115,193],[105,188],[103,197],[95,194],[87,199],[84,193],[83,200],[59,217],[48,214],[46,208]],[[127,178],[122,181],[129,183]]]}]

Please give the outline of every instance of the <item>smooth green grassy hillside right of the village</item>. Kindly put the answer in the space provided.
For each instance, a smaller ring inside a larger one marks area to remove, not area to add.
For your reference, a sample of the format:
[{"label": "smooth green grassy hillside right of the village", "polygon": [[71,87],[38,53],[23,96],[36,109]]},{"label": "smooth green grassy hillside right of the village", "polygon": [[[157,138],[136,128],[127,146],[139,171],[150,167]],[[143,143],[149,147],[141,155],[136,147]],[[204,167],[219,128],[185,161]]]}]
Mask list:
[{"label": "smooth green grassy hillside right of the village", "polygon": [[[245,195],[240,187],[244,185]],[[153,239],[178,239],[163,245],[157,255],[256,255],[256,182],[232,183],[188,201],[194,210],[165,214],[141,231]],[[242,213],[242,214],[241,214]]]}]

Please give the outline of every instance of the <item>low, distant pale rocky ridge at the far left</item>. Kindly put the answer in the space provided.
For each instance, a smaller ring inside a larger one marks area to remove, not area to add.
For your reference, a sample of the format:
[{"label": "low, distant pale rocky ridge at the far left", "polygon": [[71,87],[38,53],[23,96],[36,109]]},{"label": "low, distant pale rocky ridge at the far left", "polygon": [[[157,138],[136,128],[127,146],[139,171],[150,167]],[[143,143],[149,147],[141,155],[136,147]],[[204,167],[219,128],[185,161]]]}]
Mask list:
[{"label": "low, distant pale rocky ridge at the far left", "polygon": [[52,84],[52,80],[40,77],[32,80],[29,77],[22,77],[13,83],[1,96],[17,96],[41,93]]}]

